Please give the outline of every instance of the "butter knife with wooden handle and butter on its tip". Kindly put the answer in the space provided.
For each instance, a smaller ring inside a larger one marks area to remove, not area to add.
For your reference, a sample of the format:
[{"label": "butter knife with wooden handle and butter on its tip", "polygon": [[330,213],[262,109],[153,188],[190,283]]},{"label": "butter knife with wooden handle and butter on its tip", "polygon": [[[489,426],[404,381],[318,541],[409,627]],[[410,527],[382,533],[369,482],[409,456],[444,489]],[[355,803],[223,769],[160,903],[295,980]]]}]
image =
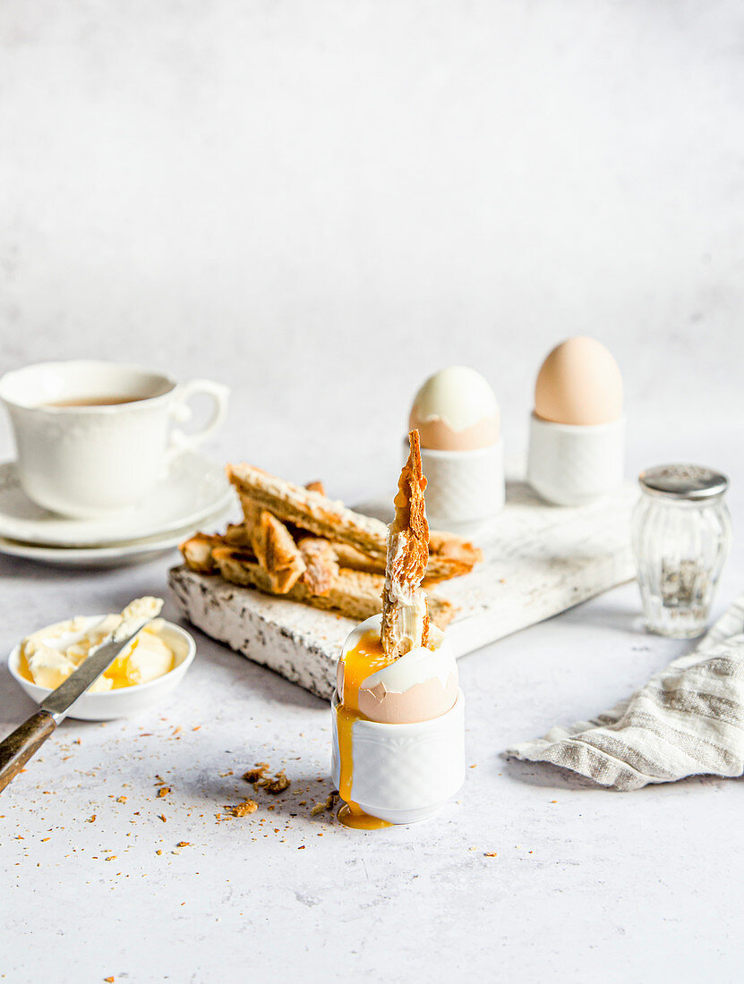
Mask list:
[{"label": "butter knife with wooden handle and butter on its tip", "polygon": [[67,711],[104,673],[151,618],[126,619],[103,643],[38,706],[35,714],[0,742],[0,792],[24,768]]}]

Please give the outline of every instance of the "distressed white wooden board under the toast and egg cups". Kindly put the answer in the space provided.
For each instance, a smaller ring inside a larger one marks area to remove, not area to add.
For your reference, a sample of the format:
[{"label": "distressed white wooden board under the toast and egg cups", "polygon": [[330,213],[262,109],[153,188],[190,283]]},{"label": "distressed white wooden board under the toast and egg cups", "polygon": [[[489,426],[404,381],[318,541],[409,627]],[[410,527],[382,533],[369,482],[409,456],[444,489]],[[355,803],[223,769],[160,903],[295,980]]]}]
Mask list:
[{"label": "distressed white wooden board under the toast and egg cups", "polygon": [[[637,497],[638,486],[627,482],[589,506],[555,507],[526,483],[507,481],[504,512],[473,536],[484,562],[436,587],[459,607],[447,628],[457,656],[630,581],[630,517]],[[381,516],[382,509],[374,512]],[[341,645],[354,626],[350,619],[183,566],[170,571],[169,584],[185,617],[206,635],[310,693],[330,697]]]}]

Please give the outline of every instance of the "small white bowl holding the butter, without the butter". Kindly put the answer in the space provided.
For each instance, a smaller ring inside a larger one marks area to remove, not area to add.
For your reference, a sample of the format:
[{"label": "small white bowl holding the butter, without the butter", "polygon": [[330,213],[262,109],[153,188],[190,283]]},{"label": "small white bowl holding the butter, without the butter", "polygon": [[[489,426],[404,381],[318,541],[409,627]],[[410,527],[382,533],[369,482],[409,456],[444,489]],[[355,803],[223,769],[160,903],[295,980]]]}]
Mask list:
[{"label": "small white bowl holding the butter, without the butter", "polygon": [[[99,622],[102,615],[86,616],[89,624]],[[117,690],[102,691],[101,694],[83,694],[70,708],[68,717],[76,717],[81,721],[110,721],[116,717],[126,717],[144,707],[158,704],[174,690],[186,675],[186,670],[196,655],[196,643],[193,638],[181,629],[179,625],[166,622],[161,631],[164,641],[173,650],[173,668],[162,677],[149,683],[134,684],[131,687],[119,687]],[[47,687],[27,680],[21,675],[21,645],[15,646],[8,657],[8,669],[19,686],[29,695],[32,701],[40,704],[51,694]]]}]

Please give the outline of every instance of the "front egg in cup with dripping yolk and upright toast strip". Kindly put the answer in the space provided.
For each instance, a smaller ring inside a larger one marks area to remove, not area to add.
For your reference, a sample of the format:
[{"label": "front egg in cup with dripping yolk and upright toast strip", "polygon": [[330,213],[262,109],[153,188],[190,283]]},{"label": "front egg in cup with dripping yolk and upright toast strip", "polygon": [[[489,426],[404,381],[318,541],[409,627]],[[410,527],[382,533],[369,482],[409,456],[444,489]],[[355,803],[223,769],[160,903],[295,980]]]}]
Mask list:
[{"label": "front egg in cup with dripping yolk and upright toast strip", "polygon": [[435,813],[464,779],[457,663],[421,588],[429,557],[419,435],[387,535],[382,613],[347,638],[331,702],[331,772],[345,826],[376,830]]}]

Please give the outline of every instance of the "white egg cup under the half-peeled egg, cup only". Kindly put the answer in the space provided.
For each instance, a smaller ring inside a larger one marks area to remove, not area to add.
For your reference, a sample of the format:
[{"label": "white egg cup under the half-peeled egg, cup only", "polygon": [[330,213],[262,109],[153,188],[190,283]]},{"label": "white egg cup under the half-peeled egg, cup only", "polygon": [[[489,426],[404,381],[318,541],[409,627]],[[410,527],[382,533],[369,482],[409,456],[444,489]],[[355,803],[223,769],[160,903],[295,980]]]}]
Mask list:
[{"label": "white egg cup under the half-peeled egg, cup only", "polygon": [[[408,443],[405,444],[406,455]],[[433,528],[463,531],[504,509],[504,442],[475,451],[421,449],[427,516]]]}]

